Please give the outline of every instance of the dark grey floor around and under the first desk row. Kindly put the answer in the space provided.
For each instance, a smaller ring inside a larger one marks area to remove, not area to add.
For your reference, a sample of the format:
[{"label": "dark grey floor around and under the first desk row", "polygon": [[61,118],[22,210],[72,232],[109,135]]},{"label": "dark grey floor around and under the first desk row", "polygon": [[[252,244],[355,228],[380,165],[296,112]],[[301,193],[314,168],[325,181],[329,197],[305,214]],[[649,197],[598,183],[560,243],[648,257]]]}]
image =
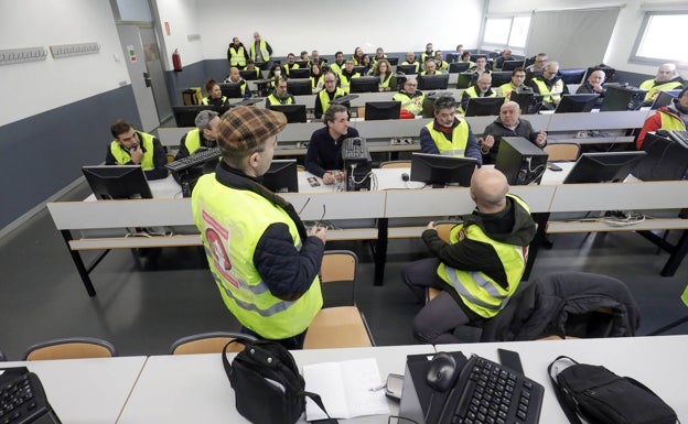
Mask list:
[{"label": "dark grey floor around and under the first desk row", "polygon": [[[80,199],[83,185],[67,195]],[[570,270],[604,273],[627,283],[641,308],[639,334],[679,317],[688,308],[679,296],[688,264],[675,276],[659,271],[667,253],[635,233],[555,236],[540,250],[531,278]],[[373,285],[370,250],[364,242],[329,243],[352,249],[361,259],[358,305],[378,345],[413,344],[410,323],[420,305],[404,286],[404,263],[424,256],[420,240],[391,240],[383,286]],[[20,359],[31,344],[56,337],[93,336],[110,340],[120,355],[163,354],[182,336],[236,330],[205,268],[201,249],[164,249],[154,267],[137,264],[131,252],[112,251],[93,272],[98,291],[88,297],[50,215],[42,211],[0,240],[0,349]],[[688,324],[671,333],[688,334]]]}]

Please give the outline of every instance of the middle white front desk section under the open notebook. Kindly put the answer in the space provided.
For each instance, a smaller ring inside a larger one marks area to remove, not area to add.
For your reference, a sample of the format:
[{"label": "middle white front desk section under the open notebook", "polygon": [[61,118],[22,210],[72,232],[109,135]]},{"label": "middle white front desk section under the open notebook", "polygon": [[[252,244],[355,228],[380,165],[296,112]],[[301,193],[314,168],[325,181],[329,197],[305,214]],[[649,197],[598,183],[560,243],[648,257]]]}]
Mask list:
[{"label": "middle white front desk section under the open notebook", "polygon": [[[374,357],[380,379],[404,373],[406,356],[432,354],[431,345],[386,346],[351,349],[292,351],[300,372],[304,365]],[[229,360],[234,357],[228,355]],[[398,403],[389,401],[390,411]],[[342,421],[341,421],[342,422]],[[373,415],[347,423],[386,423],[387,416]],[[248,423],[235,407],[235,395],[225,374],[221,356],[176,355],[150,357],[118,423]],[[302,416],[299,423],[305,423]]]}]

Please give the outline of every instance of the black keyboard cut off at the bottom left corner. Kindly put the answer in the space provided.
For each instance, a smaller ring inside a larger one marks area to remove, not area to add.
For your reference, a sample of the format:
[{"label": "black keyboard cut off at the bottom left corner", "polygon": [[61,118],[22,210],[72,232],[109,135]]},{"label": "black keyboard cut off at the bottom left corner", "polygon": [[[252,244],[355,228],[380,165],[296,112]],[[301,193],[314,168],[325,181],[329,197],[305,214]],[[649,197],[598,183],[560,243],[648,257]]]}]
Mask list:
[{"label": "black keyboard cut off at the bottom left corner", "polygon": [[35,373],[10,368],[0,376],[0,423],[60,423]]}]

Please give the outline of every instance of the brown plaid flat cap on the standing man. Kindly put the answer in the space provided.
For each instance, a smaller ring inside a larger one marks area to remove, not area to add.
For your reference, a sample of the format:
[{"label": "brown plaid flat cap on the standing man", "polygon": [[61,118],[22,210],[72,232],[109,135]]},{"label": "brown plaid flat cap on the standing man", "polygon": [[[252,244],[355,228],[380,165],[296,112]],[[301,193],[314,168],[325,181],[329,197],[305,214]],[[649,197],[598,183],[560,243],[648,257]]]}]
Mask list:
[{"label": "brown plaid flat cap on the standing man", "polygon": [[227,110],[217,126],[219,146],[243,152],[278,134],[287,124],[282,112],[255,106],[237,106]]}]

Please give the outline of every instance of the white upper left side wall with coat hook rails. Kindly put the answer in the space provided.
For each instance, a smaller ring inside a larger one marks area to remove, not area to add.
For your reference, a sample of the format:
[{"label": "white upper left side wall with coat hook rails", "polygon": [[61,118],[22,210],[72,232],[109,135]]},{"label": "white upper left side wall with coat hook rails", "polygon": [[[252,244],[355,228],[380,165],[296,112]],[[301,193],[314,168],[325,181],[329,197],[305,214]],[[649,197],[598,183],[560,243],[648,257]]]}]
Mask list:
[{"label": "white upper left side wall with coat hook rails", "polygon": [[108,0],[2,1],[0,50],[86,42],[100,53],[54,59],[49,52],[45,61],[0,66],[0,126],[129,80]]}]

